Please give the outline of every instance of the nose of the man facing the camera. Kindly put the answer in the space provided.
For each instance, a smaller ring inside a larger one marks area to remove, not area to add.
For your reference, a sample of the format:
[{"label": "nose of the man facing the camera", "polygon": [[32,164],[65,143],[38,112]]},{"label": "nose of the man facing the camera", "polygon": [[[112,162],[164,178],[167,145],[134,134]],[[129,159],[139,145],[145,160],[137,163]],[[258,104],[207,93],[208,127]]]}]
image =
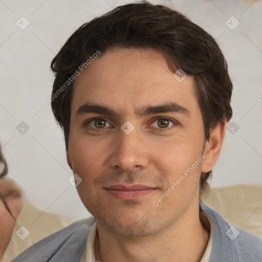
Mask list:
[{"label": "nose of the man facing the camera", "polygon": [[139,139],[136,128],[129,135],[119,130],[119,137],[108,161],[111,167],[121,172],[142,170],[148,166],[149,149]]}]

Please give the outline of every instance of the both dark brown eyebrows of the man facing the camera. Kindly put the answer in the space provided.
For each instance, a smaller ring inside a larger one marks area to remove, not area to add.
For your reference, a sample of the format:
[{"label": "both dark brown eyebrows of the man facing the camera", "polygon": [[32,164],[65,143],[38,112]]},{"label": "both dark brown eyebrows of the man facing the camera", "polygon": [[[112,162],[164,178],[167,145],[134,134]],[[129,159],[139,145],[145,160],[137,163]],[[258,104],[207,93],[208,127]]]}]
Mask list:
[{"label": "both dark brown eyebrows of the man facing the camera", "polygon": [[[116,112],[113,108],[92,103],[85,103],[81,105],[76,111],[76,115],[83,115],[88,113],[116,116],[119,118],[121,117],[121,114]],[[185,107],[174,102],[166,102],[164,104],[154,106],[146,105],[135,109],[135,114],[137,115],[137,117],[158,113],[179,113],[190,117],[190,112]]]}]

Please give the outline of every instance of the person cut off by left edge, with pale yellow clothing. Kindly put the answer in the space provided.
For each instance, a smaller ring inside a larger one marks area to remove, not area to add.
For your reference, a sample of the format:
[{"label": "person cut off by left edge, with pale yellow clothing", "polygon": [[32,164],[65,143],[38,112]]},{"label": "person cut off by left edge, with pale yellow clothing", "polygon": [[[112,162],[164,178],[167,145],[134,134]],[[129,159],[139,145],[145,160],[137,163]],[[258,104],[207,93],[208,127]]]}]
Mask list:
[{"label": "person cut off by left edge, with pale yellow clothing", "polygon": [[73,220],[44,212],[30,204],[19,185],[7,177],[8,166],[1,146],[0,166],[0,261],[9,262]]}]

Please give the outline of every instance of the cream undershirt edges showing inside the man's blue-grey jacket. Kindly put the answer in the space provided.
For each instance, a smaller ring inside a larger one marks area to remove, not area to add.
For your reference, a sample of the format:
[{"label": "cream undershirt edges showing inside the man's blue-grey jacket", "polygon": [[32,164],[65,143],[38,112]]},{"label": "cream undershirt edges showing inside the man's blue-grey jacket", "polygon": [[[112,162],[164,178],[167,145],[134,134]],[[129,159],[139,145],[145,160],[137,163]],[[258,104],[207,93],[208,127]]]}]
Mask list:
[{"label": "cream undershirt edges showing inside the man's blue-grey jacket", "polygon": [[[204,255],[202,256],[200,262],[208,262],[209,257],[211,255],[211,249],[212,249],[212,244],[213,244],[213,235],[214,235],[214,225],[210,217],[208,216],[207,213],[203,212],[204,215],[206,215],[209,224],[210,224],[210,236],[208,239],[207,247],[205,250]],[[80,262],[99,262],[99,260],[96,261],[95,258],[95,239],[96,239],[96,234],[97,234],[97,225],[95,224],[89,235],[88,235],[88,241],[86,243],[86,248],[84,250],[84,253],[82,255],[82,258]]]}]

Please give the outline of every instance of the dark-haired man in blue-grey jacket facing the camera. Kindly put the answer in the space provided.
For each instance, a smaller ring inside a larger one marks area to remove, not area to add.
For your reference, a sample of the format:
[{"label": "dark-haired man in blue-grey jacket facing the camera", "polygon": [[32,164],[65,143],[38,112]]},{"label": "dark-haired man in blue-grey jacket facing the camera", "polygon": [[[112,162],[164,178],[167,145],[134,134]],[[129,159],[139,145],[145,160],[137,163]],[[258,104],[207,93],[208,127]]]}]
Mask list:
[{"label": "dark-haired man in blue-grey jacket facing the camera", "polygon": [[232,116],[215,40],[177,11],[128,4],[82,25],[52,61],[81,220],[13,261],[261,261],[262,241],[199,200]]}]

